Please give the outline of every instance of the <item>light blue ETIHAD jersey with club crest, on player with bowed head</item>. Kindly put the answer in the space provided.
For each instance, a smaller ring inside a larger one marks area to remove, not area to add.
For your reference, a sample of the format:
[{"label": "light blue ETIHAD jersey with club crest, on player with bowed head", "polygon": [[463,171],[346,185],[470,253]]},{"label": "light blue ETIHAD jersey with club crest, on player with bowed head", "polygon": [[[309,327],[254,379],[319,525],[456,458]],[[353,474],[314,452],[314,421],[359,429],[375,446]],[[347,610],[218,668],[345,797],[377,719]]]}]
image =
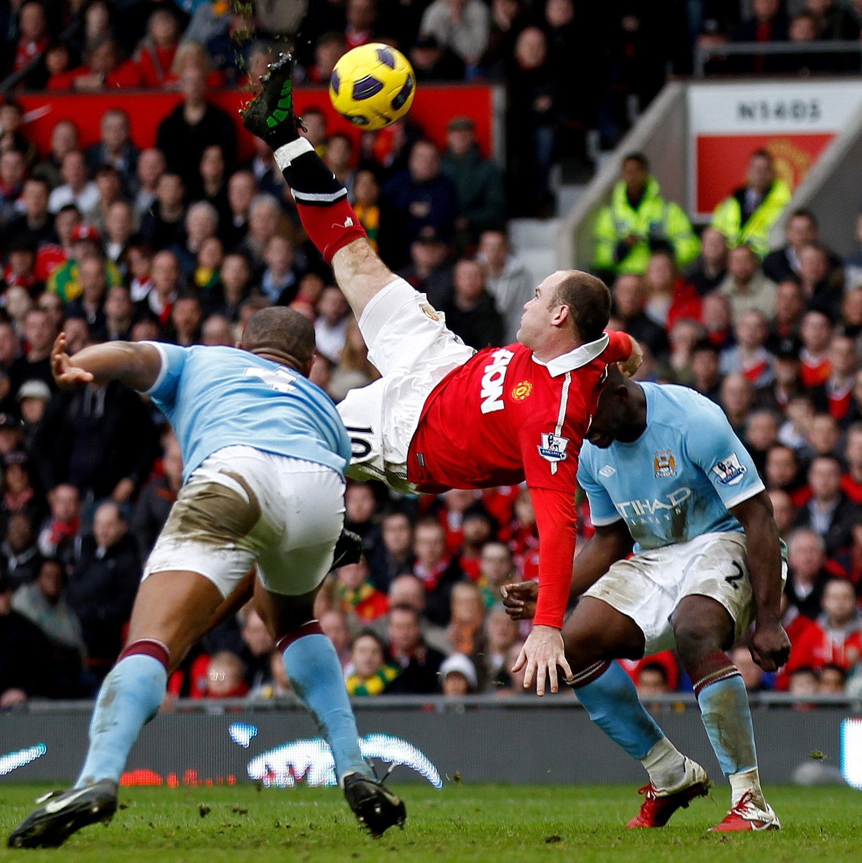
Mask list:
[{"label": "light blue ETIHAD jersey with club crest, on player with bowed head", "polygon": [[646,430],[607,450],[584,441],[578,482],[593,524],[626,520],[635,554],[741,531],[732,507],[764,488],[721,408],[687,387],[641,384]]}]

